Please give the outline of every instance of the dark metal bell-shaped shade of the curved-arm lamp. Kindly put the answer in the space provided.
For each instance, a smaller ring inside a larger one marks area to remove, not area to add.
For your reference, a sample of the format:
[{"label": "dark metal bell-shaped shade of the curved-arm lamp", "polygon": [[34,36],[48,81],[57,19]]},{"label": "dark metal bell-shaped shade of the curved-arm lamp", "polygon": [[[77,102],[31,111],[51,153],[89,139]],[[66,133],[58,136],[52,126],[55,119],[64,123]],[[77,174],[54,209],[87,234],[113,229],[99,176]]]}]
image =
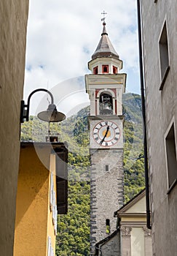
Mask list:
[{"label": "dark metal bell-shaped shade of the curved-arm lamp", "polygon": [[48,121],[48,122],[63,121],[66,118],[65,114],[58,112],[54,104],[50,104],[46,111],[42,111],[38,113],[37,116],[42,121]]}]

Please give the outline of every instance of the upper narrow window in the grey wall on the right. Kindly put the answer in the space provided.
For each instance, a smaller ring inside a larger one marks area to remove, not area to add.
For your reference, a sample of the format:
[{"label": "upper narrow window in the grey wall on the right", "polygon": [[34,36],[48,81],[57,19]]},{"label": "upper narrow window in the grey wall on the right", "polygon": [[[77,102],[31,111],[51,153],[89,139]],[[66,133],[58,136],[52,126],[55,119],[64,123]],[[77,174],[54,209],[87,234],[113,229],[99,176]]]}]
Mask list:
[{"label": "upper narrow window in the grey wall on the right", "polygon": [[168,71],[170,69],[169,56],[168,56],[168,34],[167,34],[166,22],[163,26],[162,34],[160,36],[159,49],[160,49],[160,72],[161,72],[161,80],[162,80],[160,85],[160,90],[162,90],[162,87],[168,75]]}]

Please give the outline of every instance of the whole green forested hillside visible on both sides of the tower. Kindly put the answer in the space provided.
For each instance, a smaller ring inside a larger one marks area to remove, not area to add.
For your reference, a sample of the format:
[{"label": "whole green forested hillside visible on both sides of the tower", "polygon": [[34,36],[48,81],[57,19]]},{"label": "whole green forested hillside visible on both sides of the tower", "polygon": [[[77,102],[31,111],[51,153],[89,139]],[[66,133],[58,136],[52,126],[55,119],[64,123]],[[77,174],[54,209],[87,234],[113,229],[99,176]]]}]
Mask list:
[{"label": "whole green forested hillside visible on both sides of the tower", "polygon": [[[141,97],[124,94],[125,203],[144,187]],[[89,107],[60,124],[50,124],[50,134],[68,143],[68,214],[58,218],[56,255],[89,255],[90,173]],[[48,124],[36,117],[22,125],[21,140],[45,141]],[[115,208],[115,211],[117,209]]]}]

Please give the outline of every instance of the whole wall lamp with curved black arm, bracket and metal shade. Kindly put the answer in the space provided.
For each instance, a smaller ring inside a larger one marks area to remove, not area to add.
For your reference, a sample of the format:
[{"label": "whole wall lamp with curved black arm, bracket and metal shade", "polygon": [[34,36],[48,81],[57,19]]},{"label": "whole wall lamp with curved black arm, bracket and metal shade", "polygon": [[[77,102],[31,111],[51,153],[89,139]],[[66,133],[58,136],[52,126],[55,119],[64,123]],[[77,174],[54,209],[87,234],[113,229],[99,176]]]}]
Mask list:
[{"label": "whole wall lamp with curved black arm, bracket and metal shade", "polygon": [[50,94],[51,97],[51,104],[48,106],[46,111],[42,111],[37,114],[37,117],[41,119],[42,121],[47,122],[58,122],[63,121],[66,116],[65,114],[58,112],[55,104],[53,104],[53,96],[50,91],[47,89],[36,89],[31,92],[31,94],[28,97],[28,102],[25,105],[24,100],[21,100],[21,109],[20,109],[20,123],[23,123],[24,121],[29,121],[29,107],[30,107],[30,99],[33,94],[35,94],[37,91],[45,91],[47,94]]}]

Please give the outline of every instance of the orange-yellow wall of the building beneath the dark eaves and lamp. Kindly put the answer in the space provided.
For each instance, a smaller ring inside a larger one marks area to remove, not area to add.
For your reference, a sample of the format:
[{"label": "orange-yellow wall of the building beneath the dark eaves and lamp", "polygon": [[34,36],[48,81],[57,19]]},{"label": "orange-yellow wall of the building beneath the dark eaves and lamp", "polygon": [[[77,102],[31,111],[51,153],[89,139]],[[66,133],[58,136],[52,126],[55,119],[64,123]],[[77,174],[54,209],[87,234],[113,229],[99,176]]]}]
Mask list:
[{"label": "orange-yellow wall of the building beneath the dark eaves and lamp", "polygon": [[[50,148],[42,146],[40,156],[50,163]],[[55,157],[55,156],[54,156]],[[51,157],[52,161],[54,160]],[[54,176],[55,178],[55,176]],[[55,183],[55,182],[54,182]],[[17,183],[14,256],[47,255],[47,237],[55,249],[55,234],[50,212],[50,171],[38,158],[34,146],[20,150]]]}]

